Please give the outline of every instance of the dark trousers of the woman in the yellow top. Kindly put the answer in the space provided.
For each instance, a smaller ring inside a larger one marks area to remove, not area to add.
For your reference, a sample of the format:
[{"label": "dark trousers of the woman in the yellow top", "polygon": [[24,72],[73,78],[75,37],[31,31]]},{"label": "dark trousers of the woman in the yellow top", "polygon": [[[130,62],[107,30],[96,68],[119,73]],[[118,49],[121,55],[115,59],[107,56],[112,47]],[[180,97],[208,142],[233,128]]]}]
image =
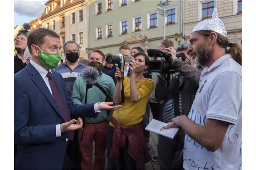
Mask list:
[{"label": "dark trousers of the woman in the yellow top", "polygon": [[126,139],[125,148],[119,148],[119,163],[115,163],[110,158],[110,152],[112,148],[114,128],[108,126],[107,131],[107,156],[108,165],[107,169],[136,169],[136,162],[128,153],[128,140]]}]

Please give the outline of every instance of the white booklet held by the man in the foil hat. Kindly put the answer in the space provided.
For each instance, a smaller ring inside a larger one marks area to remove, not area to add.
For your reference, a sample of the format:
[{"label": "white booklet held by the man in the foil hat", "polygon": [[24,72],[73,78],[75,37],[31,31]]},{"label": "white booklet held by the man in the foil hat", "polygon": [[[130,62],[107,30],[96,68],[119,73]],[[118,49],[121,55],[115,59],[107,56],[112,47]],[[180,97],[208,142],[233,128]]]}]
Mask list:
[{"label": "white booklet held by the man in the foil hat", "polygon": [[152,119],[145,129],[173,139],[179,128],[164,129],[166,125],[168,124]]}]

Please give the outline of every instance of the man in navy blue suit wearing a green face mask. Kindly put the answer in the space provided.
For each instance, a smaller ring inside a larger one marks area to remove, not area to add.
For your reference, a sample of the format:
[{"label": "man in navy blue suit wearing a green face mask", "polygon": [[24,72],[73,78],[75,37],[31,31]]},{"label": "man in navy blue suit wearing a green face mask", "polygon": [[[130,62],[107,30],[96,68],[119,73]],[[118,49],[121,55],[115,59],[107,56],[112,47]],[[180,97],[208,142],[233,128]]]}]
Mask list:
[{"label": "man in navy blue suit wearing a green face mask", "polygon": [[121,106],[74,105],[63,78],[51,70],[61,59],[59,35],[40,28],[29,33],[27,43],[30,63],[14,75],[15,169],[62,169],[73,130],[82,127],[79,117],[96,117],[100,110]]}]

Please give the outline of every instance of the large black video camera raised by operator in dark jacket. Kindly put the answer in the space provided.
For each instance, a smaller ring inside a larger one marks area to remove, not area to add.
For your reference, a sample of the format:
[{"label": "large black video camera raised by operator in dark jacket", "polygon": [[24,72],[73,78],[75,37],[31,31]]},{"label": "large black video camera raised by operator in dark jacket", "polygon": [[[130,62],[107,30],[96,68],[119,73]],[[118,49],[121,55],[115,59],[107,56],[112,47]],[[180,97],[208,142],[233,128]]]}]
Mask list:
[{"label": "large black video camera raised by operator in dark jacket", "polygon": [[[148,49],[148,56],[149,57],[163,57],[165,60],[151,60],[149,61],[149,71],[156,72],[156,73],[167,73],[167,74],[173,74],[177,71],[173,68],[173,65],[171,62],[169,62],[167,59],[172,56],[171,53],[168,53],[163,50],[159,49]],[[176,54],[176,57],[178,57],[180,60],[185,61],[186,55]]]}]

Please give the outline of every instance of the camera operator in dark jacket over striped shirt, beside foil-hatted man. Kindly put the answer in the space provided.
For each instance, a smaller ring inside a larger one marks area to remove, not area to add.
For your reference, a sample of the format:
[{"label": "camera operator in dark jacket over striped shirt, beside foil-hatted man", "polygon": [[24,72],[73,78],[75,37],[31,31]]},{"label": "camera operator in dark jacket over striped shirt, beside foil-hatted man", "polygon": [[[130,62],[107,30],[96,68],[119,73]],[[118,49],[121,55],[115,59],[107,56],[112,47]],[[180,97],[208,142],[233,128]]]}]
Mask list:
[{"label": "camera operator in dark jacket over striped shirt, beside foil-hatted man", "polygon": [[[166,74],[160,73],[158,76],[155,97],[159,101],[164,100],[159,116],[159,120],[164,123],[171,122],[176,116],[188,115],[198,89],[202,69],[190,65],[190,57],[186,51],[188,46],[189,44],[185,43],[177,48],[178,54],[185,53],[187,57],[185,61],[176,57],[174,47],[165,48],[165,51],[172,54],[167,60],[172,62],[174,69],[179,73],[172,78],[169,87],[166,87]],[[179,131],[173,139],[159,135],[157,150],[160,169],[172,168],[174,154],[183,149],[183,143],[182,131]]]}]

